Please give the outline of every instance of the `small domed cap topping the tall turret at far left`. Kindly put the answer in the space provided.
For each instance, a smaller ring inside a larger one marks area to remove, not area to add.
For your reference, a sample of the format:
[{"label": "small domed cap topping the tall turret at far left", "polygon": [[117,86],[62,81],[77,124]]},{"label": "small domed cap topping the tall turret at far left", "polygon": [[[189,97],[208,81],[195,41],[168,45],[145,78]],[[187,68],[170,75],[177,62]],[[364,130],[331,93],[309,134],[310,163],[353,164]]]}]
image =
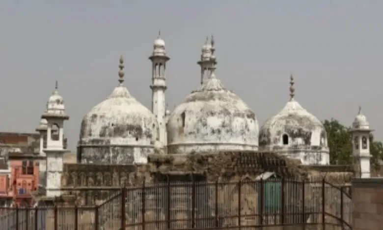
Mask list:
[{"label": "small domed cap topping the tall turret at far left", "polygon": [[65,105],[64,99],[58,93],[58,84],[56,81],[55,90],[52,92],[52,95],[49,97],[47,102],[47,111],[41,116],[42,118],[47,117],[62,117],[68,119],[69,116],[65,114]]}]

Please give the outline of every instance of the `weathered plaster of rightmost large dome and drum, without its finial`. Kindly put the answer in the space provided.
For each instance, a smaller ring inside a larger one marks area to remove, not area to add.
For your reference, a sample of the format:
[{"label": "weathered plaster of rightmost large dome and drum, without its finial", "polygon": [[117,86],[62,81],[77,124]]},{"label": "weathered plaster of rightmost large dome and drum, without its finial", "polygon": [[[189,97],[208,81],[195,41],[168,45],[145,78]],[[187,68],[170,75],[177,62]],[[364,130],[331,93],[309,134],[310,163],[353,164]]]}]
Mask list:
[{"label": "weathered plaster of rightmost large dome and drum, without its finial", "polygon": [[[287,135],[288,143],[283,143]],[[303,164],[329,164],[327,134],[322,122],[292,98],[259,132],[261,150],[301,159]]]}]

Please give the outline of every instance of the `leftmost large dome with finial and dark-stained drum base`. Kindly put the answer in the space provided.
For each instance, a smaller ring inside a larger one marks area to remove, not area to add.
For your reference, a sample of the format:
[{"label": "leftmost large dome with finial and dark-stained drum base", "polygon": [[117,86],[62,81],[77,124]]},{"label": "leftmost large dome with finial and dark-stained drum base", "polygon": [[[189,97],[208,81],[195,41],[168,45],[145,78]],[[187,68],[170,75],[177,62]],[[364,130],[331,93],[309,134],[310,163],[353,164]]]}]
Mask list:
[{"label": "leftmost large dome with finial and dark-stained drum base", "polygon": [[83,163],[145,163],[154,152],[157,119],[123,86],[122,63],[121,57],[119,86],[82,119],[79,155]]}]

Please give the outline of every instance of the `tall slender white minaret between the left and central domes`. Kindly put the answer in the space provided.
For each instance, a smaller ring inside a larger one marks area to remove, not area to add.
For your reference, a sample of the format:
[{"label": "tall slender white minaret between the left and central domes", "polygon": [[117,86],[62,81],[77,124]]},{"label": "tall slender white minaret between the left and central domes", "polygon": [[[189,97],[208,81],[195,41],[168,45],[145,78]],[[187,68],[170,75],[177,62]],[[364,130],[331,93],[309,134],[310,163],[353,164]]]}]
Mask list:
[{"label": "tall slender white minaret between the left and central domes", "polygon": [[154,41],[153,53],[149,57],[152,61],[152,113],[156,116],[159,125],[159,139],[160,142],[167,145],[166,137],[166,62],[169,61],[169,57],[166,56],[165,42],[161,39],[161,33],[158,33],[157,39]]}]

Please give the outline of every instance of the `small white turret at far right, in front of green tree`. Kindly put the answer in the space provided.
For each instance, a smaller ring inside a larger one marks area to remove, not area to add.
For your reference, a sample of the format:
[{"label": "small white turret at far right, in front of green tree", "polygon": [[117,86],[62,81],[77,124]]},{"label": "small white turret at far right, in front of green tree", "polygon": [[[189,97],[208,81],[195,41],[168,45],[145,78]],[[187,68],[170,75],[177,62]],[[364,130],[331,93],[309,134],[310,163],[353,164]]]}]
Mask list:
[{"label": "small white turret at far right, in front of green tree", "polygon": [[350,130],[353,142],[353,163],[356,168],[357,177],[370,177],[370,134],[373,131],[370,129],[367,118],[359,106],[358,114]]}]

